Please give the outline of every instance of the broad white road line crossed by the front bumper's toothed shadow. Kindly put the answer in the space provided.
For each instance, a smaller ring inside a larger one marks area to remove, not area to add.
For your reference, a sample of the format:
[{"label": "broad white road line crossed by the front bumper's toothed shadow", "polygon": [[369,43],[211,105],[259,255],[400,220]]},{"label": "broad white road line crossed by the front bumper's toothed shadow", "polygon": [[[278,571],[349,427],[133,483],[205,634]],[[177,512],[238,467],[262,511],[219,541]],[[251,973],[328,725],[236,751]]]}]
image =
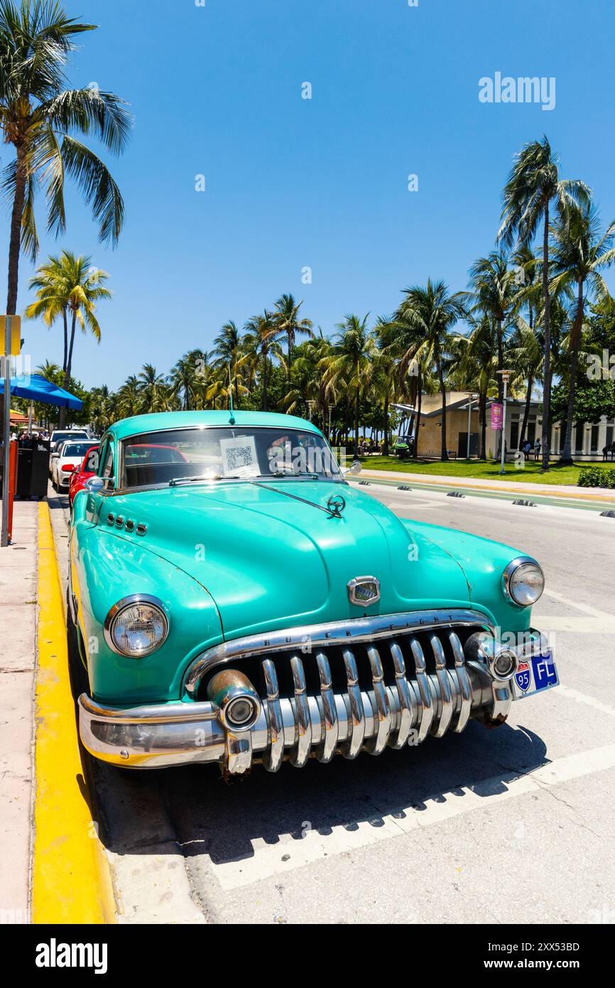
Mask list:
[{"label": "broad white road line crossed by the front bumper's toothed shadow", "polygon": [[[490,809],[495,803],[505,799],[548,789],[560,782],[569,782],[614,767],[615,744],[606,745],[603,748],[566,755],[525,775],[508,773],[485,779],[473,788],[464,786],[433,795],[424,801],[423,809],[400,807],[394,816],[378,816],[374,813],[371,822],[336,826],[324,837],[316,831],[308,831],[307,836],[301,839],[282,834],[279,842],[273,845],[258,838],[252,842],[254,855],[251,858],[209,864],[221,888],[230,891],[332,855],[348,853],[391,837],[412,833],[420,827],[429,827],[451,817],[474,810]],[[282,857],[286,855],[288,860],[282,862]]]}]

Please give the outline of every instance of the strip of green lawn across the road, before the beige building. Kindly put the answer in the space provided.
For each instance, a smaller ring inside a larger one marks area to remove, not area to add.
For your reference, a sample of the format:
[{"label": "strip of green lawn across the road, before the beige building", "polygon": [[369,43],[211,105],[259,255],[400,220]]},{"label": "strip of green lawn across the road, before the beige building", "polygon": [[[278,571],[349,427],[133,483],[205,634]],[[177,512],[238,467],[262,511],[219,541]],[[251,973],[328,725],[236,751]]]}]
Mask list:
[{"label": "strip of green lawn across the road, before the beige building", "polygon": [[[399,470],[403,473],[430,473],[432,476],[468,477],[479,480],[514,480],[516,483],[532,484],[577,484],[580,464],[557,466],[553,461],[551,469],[542,473],[540,463],[527,460],[522,470],[514,463],[506,463],[505,474],[500,474],[500,463],[493,460],[449,459],[446,462],[432,459],[398,459],[397,456],[361,456],[366,470]],[[615,463],[585,463],[585,466],[615,468]],[[599,488],[586,488],[598,490]],[[583,490],[583,488],[579,488]],[[607,493],[607,492],[605,492]]]}]

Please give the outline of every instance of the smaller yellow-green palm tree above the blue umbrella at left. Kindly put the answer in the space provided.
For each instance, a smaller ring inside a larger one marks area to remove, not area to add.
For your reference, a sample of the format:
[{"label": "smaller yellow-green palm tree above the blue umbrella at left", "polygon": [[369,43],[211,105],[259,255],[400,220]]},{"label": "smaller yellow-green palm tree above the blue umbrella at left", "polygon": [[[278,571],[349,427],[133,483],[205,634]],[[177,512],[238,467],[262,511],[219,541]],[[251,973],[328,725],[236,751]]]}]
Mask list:
[{"label": "smaller yellow-green palm tree above the blue umbrella at left", "polygon": [[[27,307],[26,318],[36,319],[42,316],[43,322],[50,326],[62,313],[66,327],[70,317],[64,388],[68,387],[70,381],[77,324],[82,332],[86,333],[89,329],[97,342],[101,341],[96,303],[112,297],[109,288],[105,288],[103,284],[108,278],[106,271],[92,266],[91,258],[84,255],[76,257],[71,251],[64,250],[59,257],[50,257],[46,264],[38,268],[37,276],[31,281],[31,286],[37,288],[37,298]],[[66,409],[62,408],[60,428],[65,421]]]}]

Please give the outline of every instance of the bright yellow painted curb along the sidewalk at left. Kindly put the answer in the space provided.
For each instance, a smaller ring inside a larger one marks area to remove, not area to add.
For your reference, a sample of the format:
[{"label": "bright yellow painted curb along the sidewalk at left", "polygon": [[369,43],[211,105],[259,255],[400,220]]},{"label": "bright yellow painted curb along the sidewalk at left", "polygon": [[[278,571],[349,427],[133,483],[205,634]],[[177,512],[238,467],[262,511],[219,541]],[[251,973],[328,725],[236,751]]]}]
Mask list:
[{"label": "bright yellow painted curb along the sidewalk at left", "polygon": [[49,507],[38,505],[34,923],[115,923],[111,873],[89,806]]}]

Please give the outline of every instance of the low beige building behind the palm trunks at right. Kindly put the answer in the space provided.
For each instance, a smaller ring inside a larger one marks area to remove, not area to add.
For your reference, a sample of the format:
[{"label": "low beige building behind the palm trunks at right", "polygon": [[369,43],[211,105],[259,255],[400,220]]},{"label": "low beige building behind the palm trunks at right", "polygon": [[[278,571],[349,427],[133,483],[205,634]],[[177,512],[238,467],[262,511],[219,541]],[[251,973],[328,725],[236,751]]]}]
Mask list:
[{"label": "low beige building behind the palm trunks at right", "polygon": [[[491,428],[492,399],[487,402],[487,455],[496,456],[500,446],[500,434]],[[533,445],[536,437],[541,437],[542,414],[540,401],[531,401],[525,439]],[[405,420],[400,424],[400,433],[414,435],[416,412],[410,405],[394,405]],[[512,458],[519,448],[519,437],[525,411],[525,399],[509,398],[506,401],[506,453]],[[468,454],[468,433],[470,434],[470,455],[480,452],[481,426],[477,395],[467,391],[446,392],[446,448],[449,456],[465,458]],[[440,394],[423,394],[421,404],[421,427],[417,454],[438,457],[442,436],[442,397]],[[599,422],[578,422],[573,425],[573,455],[576,459],[602,459],[602,449],[615,440],[615,419],[602,416]],[[561,423],[556,422],[551,430],[551,452],[558,455],[564,446]]]}]

